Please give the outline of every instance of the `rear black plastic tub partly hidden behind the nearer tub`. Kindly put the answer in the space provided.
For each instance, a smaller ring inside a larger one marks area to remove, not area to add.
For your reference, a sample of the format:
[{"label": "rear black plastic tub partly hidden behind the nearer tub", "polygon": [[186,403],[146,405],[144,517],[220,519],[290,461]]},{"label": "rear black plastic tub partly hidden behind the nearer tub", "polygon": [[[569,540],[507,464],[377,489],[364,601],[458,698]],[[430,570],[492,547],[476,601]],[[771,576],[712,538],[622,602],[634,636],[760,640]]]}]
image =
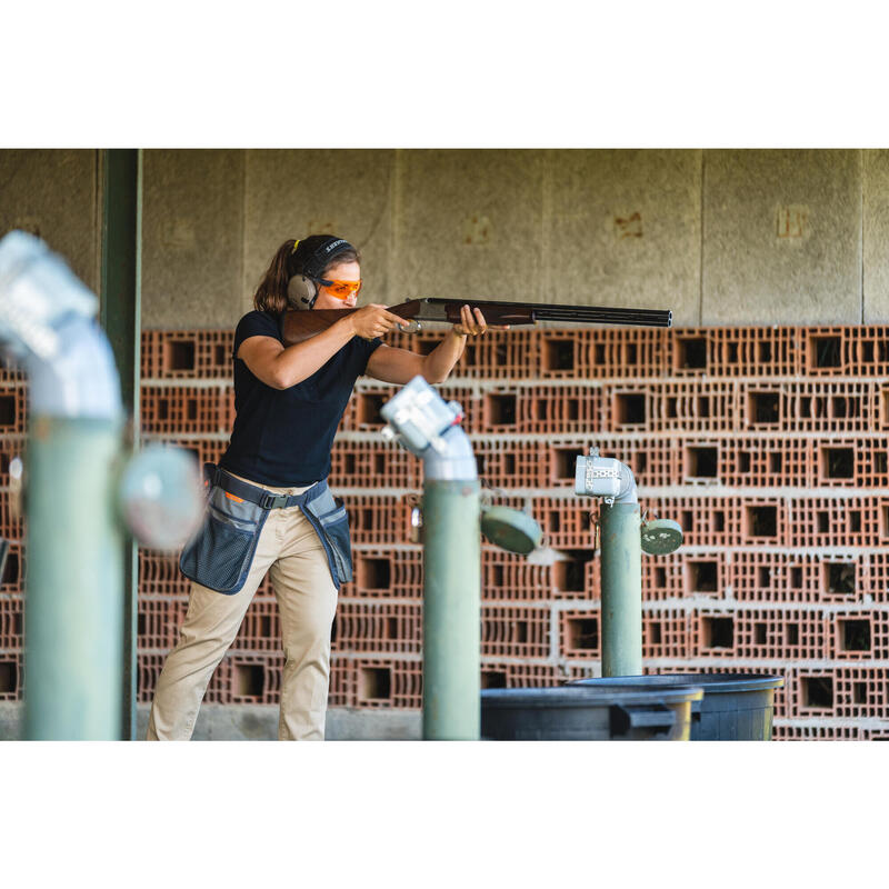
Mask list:
[{"label": "rear black plastic tub partly hidden behind the nearer tub", "polygon": [[781,676],[756,673],[661,673],[578,679],[566,688],[668,689],[703,688],[703,700],[691,705],[692,741],[770,741],[775,691]]}]

